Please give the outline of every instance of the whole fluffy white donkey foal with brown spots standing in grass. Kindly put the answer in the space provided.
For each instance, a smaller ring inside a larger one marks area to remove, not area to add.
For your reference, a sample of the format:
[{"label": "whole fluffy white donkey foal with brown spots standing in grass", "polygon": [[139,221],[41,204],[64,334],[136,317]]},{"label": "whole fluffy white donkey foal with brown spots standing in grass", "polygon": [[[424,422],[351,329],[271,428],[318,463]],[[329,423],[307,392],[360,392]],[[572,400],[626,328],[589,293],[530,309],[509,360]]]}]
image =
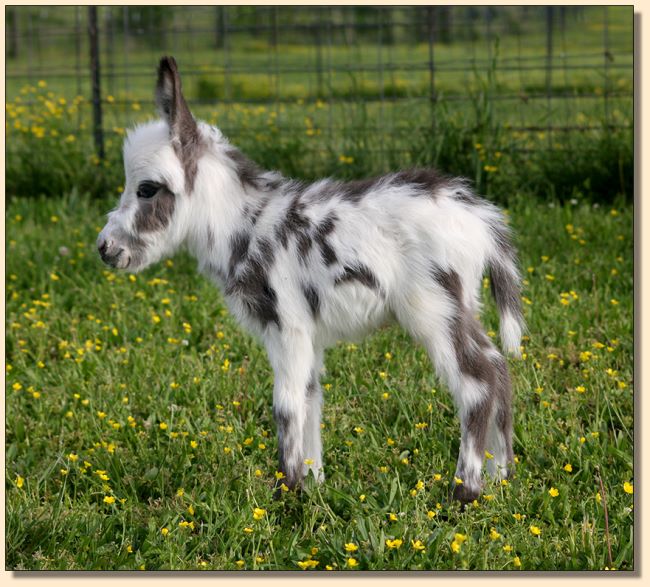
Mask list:
[{"label": "whole fluffy white donkey foal with brown spots standing in grass", "polygon": [[467,183],[431,170],[307,184],[264,171],[196,121],[176,62],[160,61],[161,120],[124,144],[126,184],[97,240],[107,264],[139,271],[185,246],[275,374],[280,471],[290,488],[323,478],[324,350],[388,320],[428,351],[461,422],[454,495],[471,501],[513,460],[506,362],[477,314],[489,269],[502,346],[517,354],[520,278],[502,214]]}]

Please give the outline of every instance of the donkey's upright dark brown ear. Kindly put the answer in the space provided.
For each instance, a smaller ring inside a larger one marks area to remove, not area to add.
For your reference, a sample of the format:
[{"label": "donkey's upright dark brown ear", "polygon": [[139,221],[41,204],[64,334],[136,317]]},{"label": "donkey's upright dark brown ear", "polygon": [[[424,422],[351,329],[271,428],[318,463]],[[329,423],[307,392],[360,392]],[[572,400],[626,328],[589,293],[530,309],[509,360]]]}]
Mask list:
[{"label": "donkey's upright dark brown ear", "polygon": [[158,65],[156,106],[169,124],[172,145],[184,164],[186,180],[191,185],[201,140],[196,120],[183,97],[181,78],[173,57],[163,57]]}]

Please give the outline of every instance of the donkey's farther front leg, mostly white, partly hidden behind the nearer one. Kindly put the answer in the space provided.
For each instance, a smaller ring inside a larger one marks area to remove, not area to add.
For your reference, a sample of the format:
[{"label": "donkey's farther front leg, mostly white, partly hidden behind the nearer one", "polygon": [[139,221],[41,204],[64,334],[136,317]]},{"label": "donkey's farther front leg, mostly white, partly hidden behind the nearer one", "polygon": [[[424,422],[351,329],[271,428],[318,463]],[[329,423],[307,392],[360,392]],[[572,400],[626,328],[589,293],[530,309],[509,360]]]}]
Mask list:
[{"label": "donkey's farther front leg, mostly white, partly hidden behind the nearer one", "polygon": [[303,477],[311,471],[319,483],[325,480],[323,473],[321,429],[321,408],[323,390],[320,386],[320,374],[323,368],[323,351],[316,351],[311,378],[307,386],[305,429],[303,434]]}]

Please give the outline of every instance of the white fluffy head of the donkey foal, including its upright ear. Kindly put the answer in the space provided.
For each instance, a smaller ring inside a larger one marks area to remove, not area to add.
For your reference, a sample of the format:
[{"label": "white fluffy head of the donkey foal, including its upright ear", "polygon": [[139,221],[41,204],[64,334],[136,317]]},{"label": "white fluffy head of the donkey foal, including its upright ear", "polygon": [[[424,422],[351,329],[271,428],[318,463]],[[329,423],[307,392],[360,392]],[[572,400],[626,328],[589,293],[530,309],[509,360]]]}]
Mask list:
[{"label": "white fluffy head of the donkey foal, including its upright ear", "polygon": [[173,254],[191,224],[191,194],[204,148],[173,57],[160,60],[156,104],[162,120],[127,135],[124,192],[97,238],[102,260],[119,269],[138,271]]}]

